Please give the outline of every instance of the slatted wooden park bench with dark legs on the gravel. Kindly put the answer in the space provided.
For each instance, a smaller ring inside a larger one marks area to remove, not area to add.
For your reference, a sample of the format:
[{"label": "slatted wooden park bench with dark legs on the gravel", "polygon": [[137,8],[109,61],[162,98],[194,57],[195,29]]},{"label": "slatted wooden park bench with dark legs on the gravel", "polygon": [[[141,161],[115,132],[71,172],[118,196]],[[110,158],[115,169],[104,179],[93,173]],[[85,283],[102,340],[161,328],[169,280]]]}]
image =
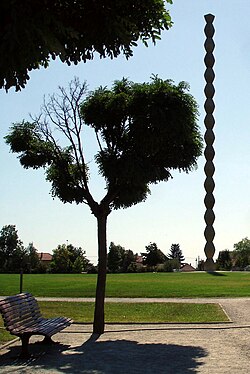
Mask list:
[{"label": "slatted wooden park bench with dark legs on the gravel", "polygon": [[0,312],[6,329],[22,341],[20,357],[29,357],[28,344],[32,335],[43,335],[44,343],[53,343],[51,336],[73,321],[66,317],[43,318],[38,303],[30,293],[8,296],[0,300]]}]

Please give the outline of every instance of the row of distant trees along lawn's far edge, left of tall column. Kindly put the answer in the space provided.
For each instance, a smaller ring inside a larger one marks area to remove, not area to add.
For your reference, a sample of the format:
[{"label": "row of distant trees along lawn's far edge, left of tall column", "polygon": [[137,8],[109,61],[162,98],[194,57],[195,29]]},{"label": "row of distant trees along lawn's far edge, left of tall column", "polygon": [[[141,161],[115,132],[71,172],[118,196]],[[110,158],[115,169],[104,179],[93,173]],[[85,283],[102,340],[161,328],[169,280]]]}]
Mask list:
[{"label": "row of distant trees along lawn's far edge, left of tall column", "polygon": [[[136,273],[148,271],[174,271],[185,260],[179,244],[172,244],[166,256],[156,243],[149,243],[145,252],[134,253],[121,245],[110,243],[107,257],[109,273]],[[45,264],[41,253],[29,243],[25,247],[18,237],[15,225],[6,225],[0,231],[0,273],[96,273],[94,266],[81,247],[59,244],[52,251],[52,260]]]}]

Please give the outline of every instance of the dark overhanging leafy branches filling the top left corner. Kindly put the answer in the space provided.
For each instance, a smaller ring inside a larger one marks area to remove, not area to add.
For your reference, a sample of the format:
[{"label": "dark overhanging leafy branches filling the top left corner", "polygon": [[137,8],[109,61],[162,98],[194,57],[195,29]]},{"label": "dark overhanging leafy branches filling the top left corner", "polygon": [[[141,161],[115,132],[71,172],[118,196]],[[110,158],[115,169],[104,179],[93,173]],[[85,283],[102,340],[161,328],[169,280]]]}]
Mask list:
[{"label": "dark overhanging leafy branches filling the top left corner", "polygon": [[[166,0],[172,3],[172,0]],[[154,43],[171,27],[163,0],[2,0],[0,87],[24,88],[29,71],[51,59],[68,65],[100,57],[126,58],[142,40]]]}]

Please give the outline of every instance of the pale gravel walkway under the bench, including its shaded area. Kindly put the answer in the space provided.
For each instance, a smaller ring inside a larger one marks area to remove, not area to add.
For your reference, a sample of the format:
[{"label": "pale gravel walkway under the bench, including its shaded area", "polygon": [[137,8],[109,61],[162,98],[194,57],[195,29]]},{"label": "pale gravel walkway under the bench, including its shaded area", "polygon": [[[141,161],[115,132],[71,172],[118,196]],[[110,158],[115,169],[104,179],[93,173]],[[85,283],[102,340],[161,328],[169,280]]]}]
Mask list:
[{"label": "pale gravel walkway under the bench, including its shaded area", "polygon": [[99,337],[92,335],[91,325],[73,324],[55,336],[60,343],[54,346],[35,343],[39,338],[32,337],[33,356],[29,360],[18,359],[19,341],[0,350],[0,373],[247,374],[250,371],[250,298],[148,301],[217,302],[231,322],[110,324]]}]

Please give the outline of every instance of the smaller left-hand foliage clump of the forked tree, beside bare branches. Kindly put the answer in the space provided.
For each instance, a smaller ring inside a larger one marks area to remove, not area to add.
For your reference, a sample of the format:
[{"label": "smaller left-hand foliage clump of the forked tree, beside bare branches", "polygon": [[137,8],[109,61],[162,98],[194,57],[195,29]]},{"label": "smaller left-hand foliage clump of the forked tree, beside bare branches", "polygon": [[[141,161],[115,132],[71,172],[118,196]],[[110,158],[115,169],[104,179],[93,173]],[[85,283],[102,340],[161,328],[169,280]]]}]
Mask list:
[{"label": "smaller left-hand foliage clump of the forked tree, beside bare branches", "polygon": [[34,122],[14,124],[5,139],[12,152],[21,153],[19,160],[24,168],[46,169],[52,196],[58,196],[63,202],[83,202],[79,188],[81,165],[75,165],[72,146],[60,147],[53,143]]}]

